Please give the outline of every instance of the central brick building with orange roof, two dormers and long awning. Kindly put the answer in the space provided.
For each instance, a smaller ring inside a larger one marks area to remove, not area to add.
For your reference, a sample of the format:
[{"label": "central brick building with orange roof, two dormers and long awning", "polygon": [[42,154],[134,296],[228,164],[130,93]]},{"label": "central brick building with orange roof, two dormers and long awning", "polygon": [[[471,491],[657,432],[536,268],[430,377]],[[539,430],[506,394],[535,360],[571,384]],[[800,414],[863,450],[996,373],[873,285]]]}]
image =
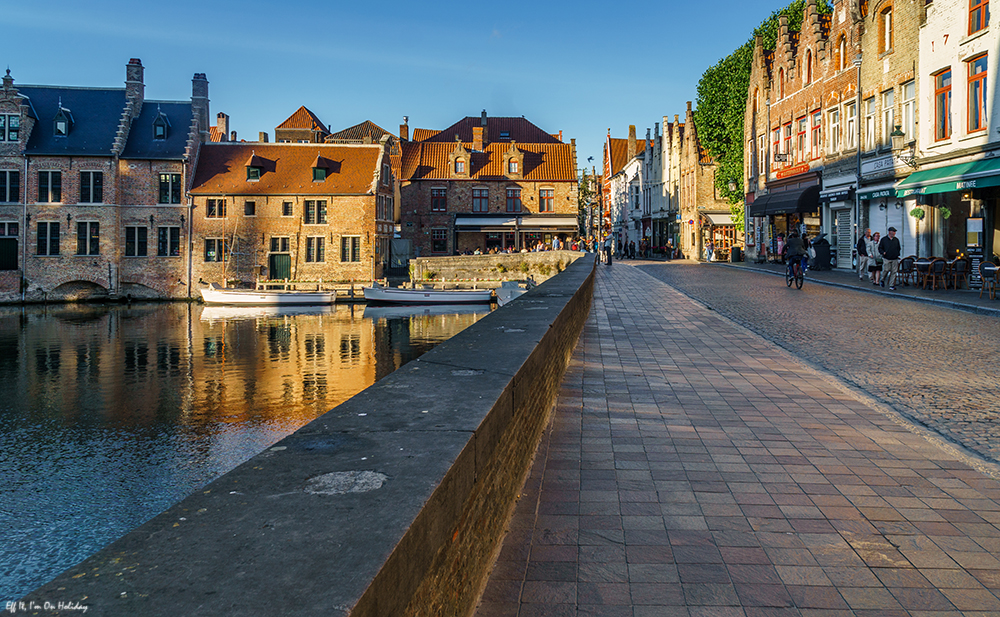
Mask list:
[{"label": "central brick building with orange roof, two dormers and long awning", "polygon": [[400,145],[400,233],[417,256],[519,250],[579,233],[576,140],[484,111]]}]

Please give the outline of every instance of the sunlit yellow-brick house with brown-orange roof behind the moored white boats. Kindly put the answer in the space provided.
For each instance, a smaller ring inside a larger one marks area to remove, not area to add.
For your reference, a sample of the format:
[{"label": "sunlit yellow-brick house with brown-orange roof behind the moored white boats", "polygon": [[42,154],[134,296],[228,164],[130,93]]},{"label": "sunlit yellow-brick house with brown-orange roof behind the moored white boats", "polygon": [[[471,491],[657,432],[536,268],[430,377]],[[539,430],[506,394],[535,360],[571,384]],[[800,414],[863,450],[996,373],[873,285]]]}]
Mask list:
[{"label": "sunlit yellow-brick house with brown-orange roof behind the moored white boats", "polygon": [[193,278],[370,281],[393,234],[389,146],[219,143],[194,184]]}]

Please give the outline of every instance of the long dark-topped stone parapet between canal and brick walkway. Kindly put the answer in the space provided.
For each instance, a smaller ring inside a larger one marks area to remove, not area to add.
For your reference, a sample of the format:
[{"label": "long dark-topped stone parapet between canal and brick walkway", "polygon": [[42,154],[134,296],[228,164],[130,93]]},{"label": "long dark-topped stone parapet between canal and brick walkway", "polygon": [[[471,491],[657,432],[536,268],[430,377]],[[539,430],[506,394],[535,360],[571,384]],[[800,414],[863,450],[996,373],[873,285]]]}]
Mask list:
[{"label": "long dark-topped stone parapet between canal and brick walkway", "polygon": [[55,607],[45,615],[78,615],[76,603],[102,616],[471,614],[590,311],[594,263],[577,260],[23,601]]}]

